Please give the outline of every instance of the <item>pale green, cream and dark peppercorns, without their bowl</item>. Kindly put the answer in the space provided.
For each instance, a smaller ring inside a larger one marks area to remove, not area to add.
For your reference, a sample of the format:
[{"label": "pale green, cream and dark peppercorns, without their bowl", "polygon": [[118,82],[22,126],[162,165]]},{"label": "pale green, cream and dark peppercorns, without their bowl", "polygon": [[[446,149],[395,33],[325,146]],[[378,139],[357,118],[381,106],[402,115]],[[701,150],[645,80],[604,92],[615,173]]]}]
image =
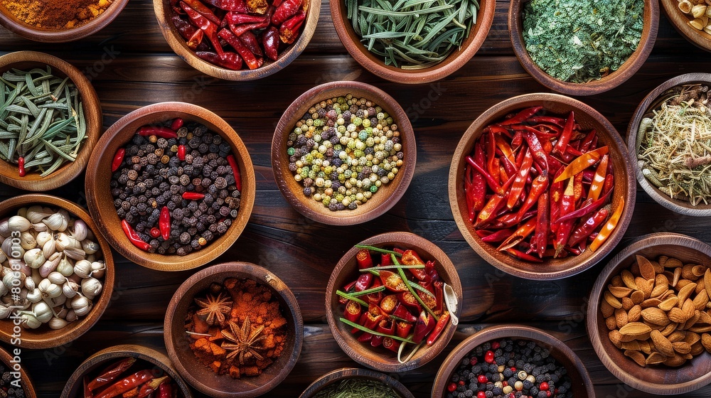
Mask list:
[{"label": "pale green, cream and dark peppercorns, without their bowl", "polygon": [[314,104],[289,134],[287,154],[304,195],[333,211],[367,202],[404,162],[392,117],[350,94]]}]

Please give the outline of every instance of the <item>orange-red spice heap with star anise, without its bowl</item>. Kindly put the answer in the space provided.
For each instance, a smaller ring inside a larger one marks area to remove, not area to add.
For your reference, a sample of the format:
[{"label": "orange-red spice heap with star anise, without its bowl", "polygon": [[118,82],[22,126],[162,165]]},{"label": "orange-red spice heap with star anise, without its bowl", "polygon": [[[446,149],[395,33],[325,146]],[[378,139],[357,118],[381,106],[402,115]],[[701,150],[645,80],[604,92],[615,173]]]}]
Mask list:
[{"label": "orange-red spice heap with star anise, without its bowl", "polygon": [[[192,333],[188,333],[191,338],[190,347],[198,360],[213,372],[234,378],[257,376],[282,355],[287,338],[284,330],[287,320],[282,316],[279,301],[267,287],[251,279],[230,278],[225,279],[223,285],[213,284],[207,292],[196,298],[203,303],[221,300],[223,304],[221,316],[216,314],[220,311],[208,311],[218,307],[193,306],[186,317],[186,330]],[[201,308],[205,311],[198,313]],[[212,318],[210,312],[213,312]],[[250,328],[244,330],[246,333],[240,333],[247,319]],[[230,328],[230,323],[237,328],[236,333]],[[225,333],[238,337],[237,342],[230,341]],[[245,353],[249,350],[235,347],[240,342],[250,340],[252,336],[255,341],[251,344],[253,350],[249,354]],[[240,351],[245,353],[243,357],[237,355]],[[230,353],[232,357],[229,357]]]}]

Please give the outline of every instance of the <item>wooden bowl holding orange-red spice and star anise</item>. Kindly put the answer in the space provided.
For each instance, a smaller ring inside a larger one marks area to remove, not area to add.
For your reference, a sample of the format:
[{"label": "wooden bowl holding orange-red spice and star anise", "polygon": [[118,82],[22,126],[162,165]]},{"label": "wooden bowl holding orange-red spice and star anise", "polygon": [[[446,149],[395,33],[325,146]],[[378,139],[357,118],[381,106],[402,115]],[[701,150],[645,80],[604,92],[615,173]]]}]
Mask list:
[{"label": "wooden bowl holding orange-red spice and star anise", "polygon": [[188,278],[166,311],[164,340],[178,373],[210,397],[257,397],[291,372],[304,321],[272,272],[216,264]]}]

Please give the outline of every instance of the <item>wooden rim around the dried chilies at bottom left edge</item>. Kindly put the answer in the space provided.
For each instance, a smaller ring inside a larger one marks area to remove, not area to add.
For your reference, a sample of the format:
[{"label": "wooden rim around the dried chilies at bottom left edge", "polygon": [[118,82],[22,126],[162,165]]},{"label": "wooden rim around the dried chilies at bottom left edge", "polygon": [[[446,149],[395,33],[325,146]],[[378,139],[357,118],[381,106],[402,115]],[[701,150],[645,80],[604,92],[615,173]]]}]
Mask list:
[{"label": "wooden rim around the dried chilies at bottom left edge", "polygon": [[[162,348],[160,350],[149,348],[144,345],[134,345],[134,344],[122,344],[113,345],[112,347],[105,348],[94,355],[88,357],[84,362],[82,362],[77,370],[69,377],[67,384],[65,384],[62,390],[61,398],[80,398],[84,396],[83,392],[83,382],[86,375],[94,375],[95,370],[101,372],[109,365],[121,360],[126,357],[134,357],[137,360],[143,360],[149,364],[154,365],[153,368],[156,370],[161,370],[165,375],[168,375],[173,379],[180,389],[178,398],[192,398],[193,394],[188,387],[188,384],[183,381],[183,379],[178,375],[175,368],[171,364],[171,361],[166,357],[165,350]],[[137,364],[133,365],[132,372],[137,372],[141,369],[137,367]],[[130,371],[129,371],[130,372]]]}]

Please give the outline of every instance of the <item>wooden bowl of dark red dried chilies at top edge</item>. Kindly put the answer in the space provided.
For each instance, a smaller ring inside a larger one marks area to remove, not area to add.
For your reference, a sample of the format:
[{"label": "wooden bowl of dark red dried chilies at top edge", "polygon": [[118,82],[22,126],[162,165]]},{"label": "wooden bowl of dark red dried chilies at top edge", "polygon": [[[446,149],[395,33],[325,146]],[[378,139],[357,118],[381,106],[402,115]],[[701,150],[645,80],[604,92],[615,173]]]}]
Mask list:
[{"label": "wooden bowl of dark red dried chilies at top edge", "polygon": [[154,0],[163,36],[183,60],[225,80],[255,80],[309,44],[321,0]]}]

